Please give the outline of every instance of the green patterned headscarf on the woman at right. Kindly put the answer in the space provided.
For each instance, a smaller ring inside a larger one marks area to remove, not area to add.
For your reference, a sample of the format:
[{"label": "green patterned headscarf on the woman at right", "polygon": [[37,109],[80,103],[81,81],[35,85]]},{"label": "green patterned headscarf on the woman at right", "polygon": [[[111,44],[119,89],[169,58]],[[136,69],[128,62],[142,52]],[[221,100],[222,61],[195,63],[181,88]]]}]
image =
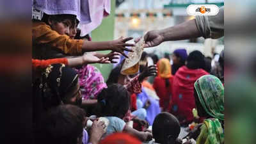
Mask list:
[{"label": "green patterned headscarf on the woman at right", "polygon": [[224,87],[220,79],[212,75],[202,76],[196,80],[195,90],[207,114],[224,120]]}]

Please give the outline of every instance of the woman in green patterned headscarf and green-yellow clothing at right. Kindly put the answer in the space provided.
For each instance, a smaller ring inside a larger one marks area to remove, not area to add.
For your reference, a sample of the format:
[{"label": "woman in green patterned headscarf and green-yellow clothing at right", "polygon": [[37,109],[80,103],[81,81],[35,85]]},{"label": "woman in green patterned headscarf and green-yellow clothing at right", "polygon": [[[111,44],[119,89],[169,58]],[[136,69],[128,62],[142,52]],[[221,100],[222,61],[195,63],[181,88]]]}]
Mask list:
[{"label": "woman in green patterned headscarf and green-yellow clothing at right", "polygon": [[195,102],[199,116],[207,119],[200,127],[198,144],[224,143],[224,87],[216,76],[205,75],[195,82]]}]

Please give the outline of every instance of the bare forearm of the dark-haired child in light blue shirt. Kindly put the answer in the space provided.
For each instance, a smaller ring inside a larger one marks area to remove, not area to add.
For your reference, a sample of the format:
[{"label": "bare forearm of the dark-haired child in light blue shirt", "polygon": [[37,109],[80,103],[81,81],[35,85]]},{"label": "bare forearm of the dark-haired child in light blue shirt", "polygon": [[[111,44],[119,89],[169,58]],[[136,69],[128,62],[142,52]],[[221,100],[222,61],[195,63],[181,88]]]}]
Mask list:
[{"label": "bare forearm of the dark-haired child in light blue shirt", "polygon": [[132,134],[133,136],[136,136],[141,141],[150,141],[153,138],[150,132],[137,131],[136,129],[132,129],[131,127],[128,127],[128,126],[125,126],[123,131],[129,134]]}]

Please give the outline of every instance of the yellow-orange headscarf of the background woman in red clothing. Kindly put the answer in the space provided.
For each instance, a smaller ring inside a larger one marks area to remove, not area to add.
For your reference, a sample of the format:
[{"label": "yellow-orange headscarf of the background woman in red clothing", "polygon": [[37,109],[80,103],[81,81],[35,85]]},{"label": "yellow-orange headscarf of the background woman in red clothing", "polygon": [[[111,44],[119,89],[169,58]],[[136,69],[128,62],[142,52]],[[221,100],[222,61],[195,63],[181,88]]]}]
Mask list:
[{"label": "yellow-orange headscarf of the background woman in red clothing", "polygon": [[172,68],[167,58],[162,58],[157,62],[157,76],[162,78],[172,77]]}]

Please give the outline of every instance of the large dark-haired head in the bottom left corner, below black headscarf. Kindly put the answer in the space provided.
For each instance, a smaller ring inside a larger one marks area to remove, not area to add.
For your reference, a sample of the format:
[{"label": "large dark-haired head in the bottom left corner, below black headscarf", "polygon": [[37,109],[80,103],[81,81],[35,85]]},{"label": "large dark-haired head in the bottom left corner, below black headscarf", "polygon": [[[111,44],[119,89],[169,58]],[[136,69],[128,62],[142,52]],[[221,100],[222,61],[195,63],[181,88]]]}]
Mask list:
[{"label": "large dark-haired head in the bottom left corner, below black headscarf", "polygon": [[36,124],[35,141],[38,144],[74,144],[83,136],[83,109],[70,104],[52,108]]}]

